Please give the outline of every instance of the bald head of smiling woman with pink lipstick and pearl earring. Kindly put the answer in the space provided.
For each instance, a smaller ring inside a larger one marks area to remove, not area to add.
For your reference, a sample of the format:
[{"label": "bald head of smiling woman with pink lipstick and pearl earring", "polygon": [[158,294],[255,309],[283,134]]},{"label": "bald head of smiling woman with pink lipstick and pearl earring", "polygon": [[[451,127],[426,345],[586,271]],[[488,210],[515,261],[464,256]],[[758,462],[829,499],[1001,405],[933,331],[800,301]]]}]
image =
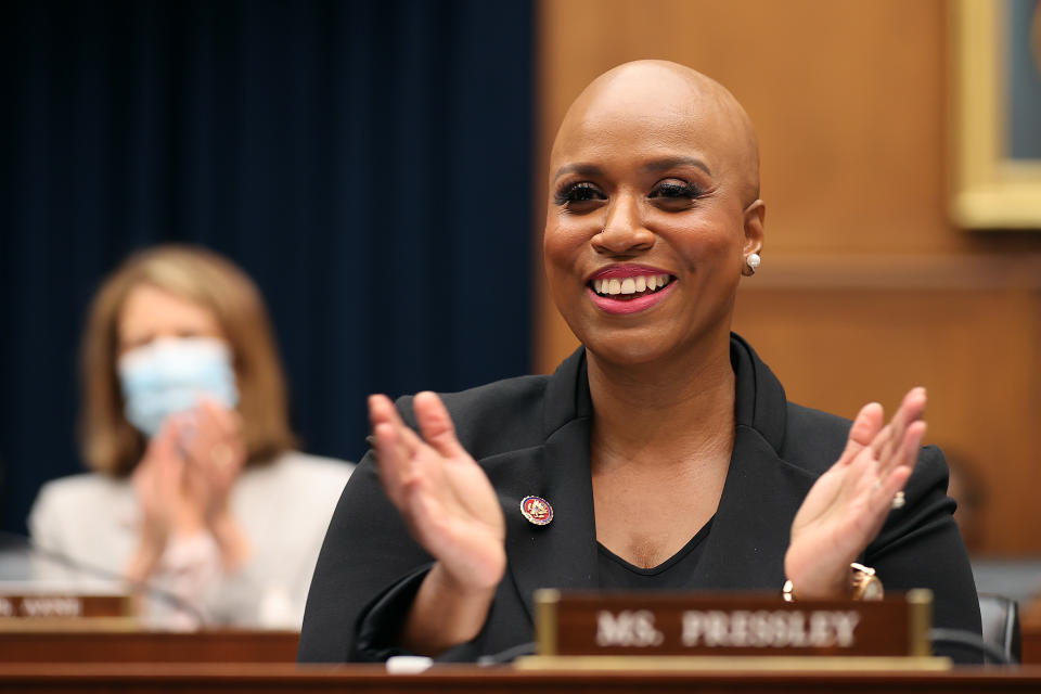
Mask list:
[{"label": "bald head of smiling woman with pink lipstick and pearl earring", "polygon": [[[594,82],[564,117],[550,155],[547,277],[564,319],[599,361],[654,360],[679,332],[725,344],[744,259],[762,246],[766,208],[747,115],[717,82],[656,66],[658,79],[621,69]],[[666,288],[634,303],[616,298],[648,274],[656,290],[665,275]],[[586,296],[604,278],[608,297]],[[639,336],[663,327],[672,336]]]}]

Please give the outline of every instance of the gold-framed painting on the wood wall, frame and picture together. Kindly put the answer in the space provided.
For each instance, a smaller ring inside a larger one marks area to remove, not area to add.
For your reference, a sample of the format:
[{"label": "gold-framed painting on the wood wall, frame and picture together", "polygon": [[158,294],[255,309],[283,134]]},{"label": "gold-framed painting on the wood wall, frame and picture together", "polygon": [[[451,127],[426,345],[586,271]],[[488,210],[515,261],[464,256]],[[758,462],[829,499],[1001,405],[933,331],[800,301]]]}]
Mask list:
[{"label": "gold-framed painting on the wood wall, frame and picture together", "polygon": [[1041,0],[951,12],[951,214],[966,229],[1041,230]]}]

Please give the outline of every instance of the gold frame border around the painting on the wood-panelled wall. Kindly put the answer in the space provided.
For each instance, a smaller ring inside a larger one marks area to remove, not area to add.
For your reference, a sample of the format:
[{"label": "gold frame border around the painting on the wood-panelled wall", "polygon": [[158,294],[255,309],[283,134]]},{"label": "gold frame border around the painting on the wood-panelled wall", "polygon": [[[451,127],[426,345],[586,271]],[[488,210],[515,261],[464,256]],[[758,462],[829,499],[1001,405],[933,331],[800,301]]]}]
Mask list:
[{"label": "gold frame border around the painting on the wood-panelled wall", "polygon": [[[951,216],[966,229],[1041,230],[1041,158],[1013,158],[1008,153],[1012,98],[1006,83],[1007,3],[1008,0],[951,3],[954,73]],[[1034,22],[1041,22],[1037,13]],[[1041,41],[1037,26],[1034,40]],[[1041,70],[1041,65],[1038,69]],[[1041,123],[1038,127],[1041,128]]]}]

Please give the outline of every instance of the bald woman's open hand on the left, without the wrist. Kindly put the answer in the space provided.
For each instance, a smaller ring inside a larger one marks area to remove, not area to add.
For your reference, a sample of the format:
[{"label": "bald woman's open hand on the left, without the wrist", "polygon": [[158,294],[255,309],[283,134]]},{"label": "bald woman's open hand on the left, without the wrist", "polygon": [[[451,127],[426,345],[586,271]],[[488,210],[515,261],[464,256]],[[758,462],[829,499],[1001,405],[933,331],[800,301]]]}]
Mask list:
[{"label": "bald woman's open hand on the left, without the wrist", "polygon": [[494,589],[506,567],[505,520],[496,491],[455,438],[437,395],[417,394],[413,410],[422,438],[389,398],[369,398],[383,487],[444,578],[463,590]]}]

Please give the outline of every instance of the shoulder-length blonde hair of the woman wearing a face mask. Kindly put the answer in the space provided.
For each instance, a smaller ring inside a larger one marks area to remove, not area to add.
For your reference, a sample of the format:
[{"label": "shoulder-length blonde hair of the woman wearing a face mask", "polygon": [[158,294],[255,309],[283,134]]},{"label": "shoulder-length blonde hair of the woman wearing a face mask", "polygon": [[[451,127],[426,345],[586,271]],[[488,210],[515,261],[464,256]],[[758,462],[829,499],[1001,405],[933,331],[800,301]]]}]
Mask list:
[{"label": "shoulder-length blonde hair of the woman wearing a face mask", "polygon": [[87,464],[95,472],[124,476],[144,454],[144,437],[124,414],[116,372],[123,306],[141,284],[198,304],[217,317],[233,356],[247,464],[266,462],[294,447],[285,378],[260,292],[242,270],[213,252],[162,245],[127,258],[91,304],[80,352],[79,433]]}]

